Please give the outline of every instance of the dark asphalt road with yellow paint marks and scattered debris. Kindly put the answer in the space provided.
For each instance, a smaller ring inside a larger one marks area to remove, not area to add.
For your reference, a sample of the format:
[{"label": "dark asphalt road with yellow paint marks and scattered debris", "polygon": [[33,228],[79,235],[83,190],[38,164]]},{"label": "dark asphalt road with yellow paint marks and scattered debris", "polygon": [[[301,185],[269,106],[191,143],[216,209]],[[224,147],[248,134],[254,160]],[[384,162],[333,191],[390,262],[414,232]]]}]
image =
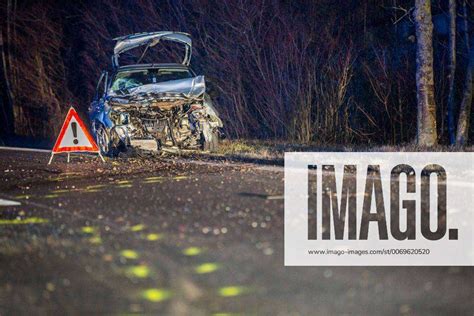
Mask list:
[{"label": "dark asphalt road with yellow paint marks and scattered debris", "polygon": [[1,315],[474,313],[472,267],[284,267],[279,167],[48,158],[0,150]]}]

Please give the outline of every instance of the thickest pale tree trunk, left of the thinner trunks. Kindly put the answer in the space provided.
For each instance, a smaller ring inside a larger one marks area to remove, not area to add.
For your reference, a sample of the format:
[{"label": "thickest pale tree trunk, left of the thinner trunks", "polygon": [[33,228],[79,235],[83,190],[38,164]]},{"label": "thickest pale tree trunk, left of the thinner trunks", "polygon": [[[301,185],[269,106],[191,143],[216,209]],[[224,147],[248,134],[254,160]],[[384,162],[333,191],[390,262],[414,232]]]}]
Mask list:
[{"label": "thickest pale tree trunk, left of the thinner trunks", "polygon": [[430,0],[415,0],[417,143],[437,144],[436,103],[433,75],[433,22]]}]

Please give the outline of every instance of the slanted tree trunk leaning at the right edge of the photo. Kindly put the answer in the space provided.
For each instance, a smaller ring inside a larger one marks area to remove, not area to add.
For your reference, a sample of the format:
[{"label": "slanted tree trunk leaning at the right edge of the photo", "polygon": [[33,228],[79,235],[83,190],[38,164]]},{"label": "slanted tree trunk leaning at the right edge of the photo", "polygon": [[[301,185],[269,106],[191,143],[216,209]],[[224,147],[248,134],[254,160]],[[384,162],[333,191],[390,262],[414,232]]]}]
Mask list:
[{"label": "slanted tree trunk leaning at the right edge of the photo", "polygon": [[[471,39],[473,42],[474,38]],[[459,120],[458,120],[458,131],[456,143],[458,145],[466,145],[469,137],[469,126],[470,126],[470,117],[471,117],[471,106],[472,106],[472,93],[474,90],[474,45],[471,45],[469,52],[469,64],[466,70],[466,80],[464,84],[464,92],[461,101],[461,109],[459,111]]]}]

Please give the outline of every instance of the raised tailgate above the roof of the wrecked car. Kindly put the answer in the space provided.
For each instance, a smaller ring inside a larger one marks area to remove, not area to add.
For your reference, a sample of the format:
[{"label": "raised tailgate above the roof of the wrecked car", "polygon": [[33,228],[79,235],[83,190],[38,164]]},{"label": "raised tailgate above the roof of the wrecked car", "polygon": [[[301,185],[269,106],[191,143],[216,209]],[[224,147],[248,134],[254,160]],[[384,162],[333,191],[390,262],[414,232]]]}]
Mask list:
[{"label": "raised tailgate above the roof of the wrecked car", "polygon": [[112,57],[112,65],[114,67],[119,66],[119,57],[121,54],[140,46],[146,46],[142,54],[143,57],[147,53],[148,48],[155,46],[161,40],[183,44],[185,47],[185,54],[182,64],[189,66],[191,61],[192,41],[190,35],[187,33],[169,31],[138,33],[117,37],[114,38],[114,40],[117,41],[114,48],[114,55]]}]

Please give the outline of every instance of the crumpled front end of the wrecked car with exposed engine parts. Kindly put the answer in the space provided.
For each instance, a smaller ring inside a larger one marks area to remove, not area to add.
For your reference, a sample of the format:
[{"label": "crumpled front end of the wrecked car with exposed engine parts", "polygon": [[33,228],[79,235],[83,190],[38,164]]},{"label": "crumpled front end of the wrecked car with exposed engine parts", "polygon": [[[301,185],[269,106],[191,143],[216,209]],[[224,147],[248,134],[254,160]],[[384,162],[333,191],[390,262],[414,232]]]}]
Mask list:
[{"label": "crumpled front end of the wrecked car with exposed engine parts", "polygon": [[102,118],[93,126],[95,133],[101,135],[98,129],[106,127],[108,140],[99,140],[109,143],[105,154],[147,141],[157,149],[216,150],[214,138],[222,127],[203,76],[112,91],[92,112],[95,120]]}]

